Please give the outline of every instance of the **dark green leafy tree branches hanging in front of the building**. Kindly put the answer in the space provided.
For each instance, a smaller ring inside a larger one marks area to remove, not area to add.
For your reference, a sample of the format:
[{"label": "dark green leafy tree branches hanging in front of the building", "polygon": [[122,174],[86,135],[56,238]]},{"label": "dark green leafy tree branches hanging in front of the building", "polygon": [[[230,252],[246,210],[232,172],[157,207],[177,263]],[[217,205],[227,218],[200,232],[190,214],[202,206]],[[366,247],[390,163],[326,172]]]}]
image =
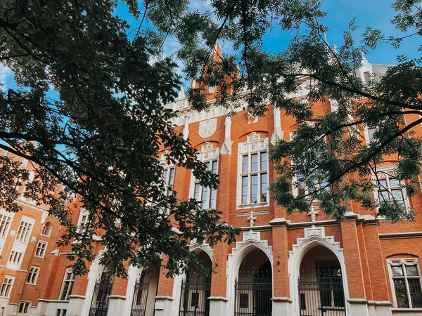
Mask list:
[{"label": "dark green leafy tree branches hanging in front of the building", "polygon": [[[49,206],[68,228],[61,243],[79,241],[72,244],[76,272],[86,272],[85,262],[93,258],[91,237],[98,231],[106,246],[103,263],[122,275],[124,261],[148,265],[155,254],[168,255],[172,275],[195,260],[189,239],[234,240],[236,231],[219,221],[219,212],[203,211],[195,200],[181,201],[176,192],[167,196],[163,190],[160,146],[169,150],[168,162],[192,169],[203,185],[218,183],[172,129],[175,113],[163,107],[181,85],[174,60],[162,58],[168,35],[181,44],[174,57],[184,61],[186,77],[219,88],[217,105],[234,110],[246,104],[251,114],[264,115],[273,104],[300,123],[293,141],[280,140],[271,150],[281,175],[271,185],[274,198],[288,211],[305,211],[318,199],[321,209],[341,220],[348,201],[356,200],[380,206],[392,221],[414,218],[394,200],[374,199],[371,175],[390,155],[407,194],[416,192],[421,140],[408,136],[422,119],[406,125],[403,115],[422,114],[421,59],[400,56],[369,84],[357,77],[357,69],[362,55],[380,42],[397,47],[421,38],[421,1],[393,4],[392,23],[402,37],[369,27],[355,41],[351,21],[337,50],[324,39],[326,13],[316,0],[217,0],[206,12],[188,10],[186,0],[124,2],[139,22],[132,33],[113,14],[113,0],[0,4],[0,61],[13,70],[17,85],[0,92],[0,148],[34,165],[36,176],[25,195]],[[286,50],[264,51],[262,38],[272,27],[295,32]],[[237,54],[210,60],[217,39],[230,42]],[[313,107],[292,100],[304,82],[310,104],[331,98],[338,100],[338,110],[315,117]],[[228,88],[234,93],[226,93]],[[199,88],[189,91],[189,99],[198,110],[207,107]],[[378,128],[369,146],[359,136],[364,126]],[[0,206],[19,211],[15,179],[25,181],[28,173],[11,156],[0,159]],[[290,163],[295,161],[303,163]],[[296,178],[306,183],[305,196],[291,195]],[[61,185],[63,192],[53,194]],[[70,193],[89,211],[83,232],[69,219]]]}]

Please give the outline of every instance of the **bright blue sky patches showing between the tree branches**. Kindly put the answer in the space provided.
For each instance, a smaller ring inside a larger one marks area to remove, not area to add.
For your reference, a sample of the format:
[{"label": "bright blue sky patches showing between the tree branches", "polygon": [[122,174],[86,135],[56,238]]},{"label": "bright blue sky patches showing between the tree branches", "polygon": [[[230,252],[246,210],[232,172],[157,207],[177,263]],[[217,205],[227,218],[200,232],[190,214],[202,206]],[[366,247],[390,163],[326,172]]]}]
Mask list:
[{"label": "bright blue sky patches showing between the tree branches", "polygon": [[[394,0],[325,0],[323,4],[324,11],[328,13],[324,23],[329,27],[326,34],[327,41],[333,45],[340,46],[342,44],[342,33],[347,29],[347,25],[352,18],[356,17],[356,24],[359,25],[356,39],[359,39],[359,32],[363,32],[366,26],[372,26],[381,29],[385,34],[397,34],[390,20],[395,15],[391,4]],[[191,0],[191,8],[205,11],[210,8],[210,3],[202,0]],[[136,20],[127,12],[124,5],[117,8],[116,14],[127,20],[132,28],[135,28]],[[129,30],[130,31],[130,30]],[[292,34],[282,32],[279,27],[274,27],[264,38],[264,49],[274,53],[283,50],[288,45],[288,40]],[[405,39],[402,47],[399,49],[392,48],[389,44],[378,46],[376,51],[371,51],[366,55],[366,59],[372,63],[392,65],[395,64],[397,55],[404,54],[410,58],[421,58],[421,52],[417,48],[421,43],[421,37]],[[220,43],[226,53],[231,53],[231,47]],[[165,43],[165,54],[170,55],[178,48],[177,42],[167,39]],[[6,86],[13,87],[13,75],[11,71],[0,67],[0,81]]]}]

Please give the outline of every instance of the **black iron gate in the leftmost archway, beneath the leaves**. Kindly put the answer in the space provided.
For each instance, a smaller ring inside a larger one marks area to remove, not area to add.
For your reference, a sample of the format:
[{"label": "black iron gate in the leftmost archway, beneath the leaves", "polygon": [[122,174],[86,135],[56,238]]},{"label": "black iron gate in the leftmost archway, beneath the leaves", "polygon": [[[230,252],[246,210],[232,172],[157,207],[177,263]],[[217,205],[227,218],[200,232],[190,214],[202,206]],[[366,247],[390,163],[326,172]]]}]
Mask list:
[{"label": "black iron gate in the leftmost archway, beneath the leaves", "polygon": [[107,275],[103,272],[101,278],[95,284],[94,296],[92,296],[89,316],[107,316],[108,296],[113,289],[113,275]]}]

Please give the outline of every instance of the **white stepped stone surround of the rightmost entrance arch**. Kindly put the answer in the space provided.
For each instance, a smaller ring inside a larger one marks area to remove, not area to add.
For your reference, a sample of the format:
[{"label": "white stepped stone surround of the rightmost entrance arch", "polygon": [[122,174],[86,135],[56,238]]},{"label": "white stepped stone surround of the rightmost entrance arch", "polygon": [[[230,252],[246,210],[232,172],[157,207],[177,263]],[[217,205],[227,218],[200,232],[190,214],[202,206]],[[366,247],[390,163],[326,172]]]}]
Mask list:
[{"label": "white stepped stone surround of the rightmost entrance arch", "polygon": [[349,287],[347,285],[347,270],[345,265],[345,256],[343,249],[340,247],[340,242],[335,242],[333,236],[325,235],[324,227],[316,227],[312,225],[311,228],[305,228],[305,237],[298,238],[296,244],[293,245],[293,249],[288,252],[288,276],[290,279],[290,298],[293,301],[291,309],[291,315],[300,315],[299,298],[298,298],[298,278],[300,276],[300,263],[307,254],[307,252],[314,248],[314,246],[324,246],[331,250],[333,254],[338,258],[340,263],[341,274],[343,277],[343,287],[345,293],[345,305],[346,315],[350,315],[350,303],[349,300]]}]

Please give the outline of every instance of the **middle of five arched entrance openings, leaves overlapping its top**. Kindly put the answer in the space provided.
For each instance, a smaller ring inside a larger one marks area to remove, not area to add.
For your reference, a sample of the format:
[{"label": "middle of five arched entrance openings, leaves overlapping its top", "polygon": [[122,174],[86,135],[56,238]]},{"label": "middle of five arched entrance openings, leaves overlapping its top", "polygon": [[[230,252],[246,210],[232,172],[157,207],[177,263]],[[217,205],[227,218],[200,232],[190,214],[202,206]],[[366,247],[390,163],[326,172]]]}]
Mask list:
[{"label": "middle of five arched entrance openings, leaves overlapping its top", "polygon": [[[212,269],[212,261],[205,251],[196,255],[203,267]],[[186,278],[181,282],[179,316],[210,315],[211,272],[209,275],[199,275],[193,267],[189,267]]]}]

